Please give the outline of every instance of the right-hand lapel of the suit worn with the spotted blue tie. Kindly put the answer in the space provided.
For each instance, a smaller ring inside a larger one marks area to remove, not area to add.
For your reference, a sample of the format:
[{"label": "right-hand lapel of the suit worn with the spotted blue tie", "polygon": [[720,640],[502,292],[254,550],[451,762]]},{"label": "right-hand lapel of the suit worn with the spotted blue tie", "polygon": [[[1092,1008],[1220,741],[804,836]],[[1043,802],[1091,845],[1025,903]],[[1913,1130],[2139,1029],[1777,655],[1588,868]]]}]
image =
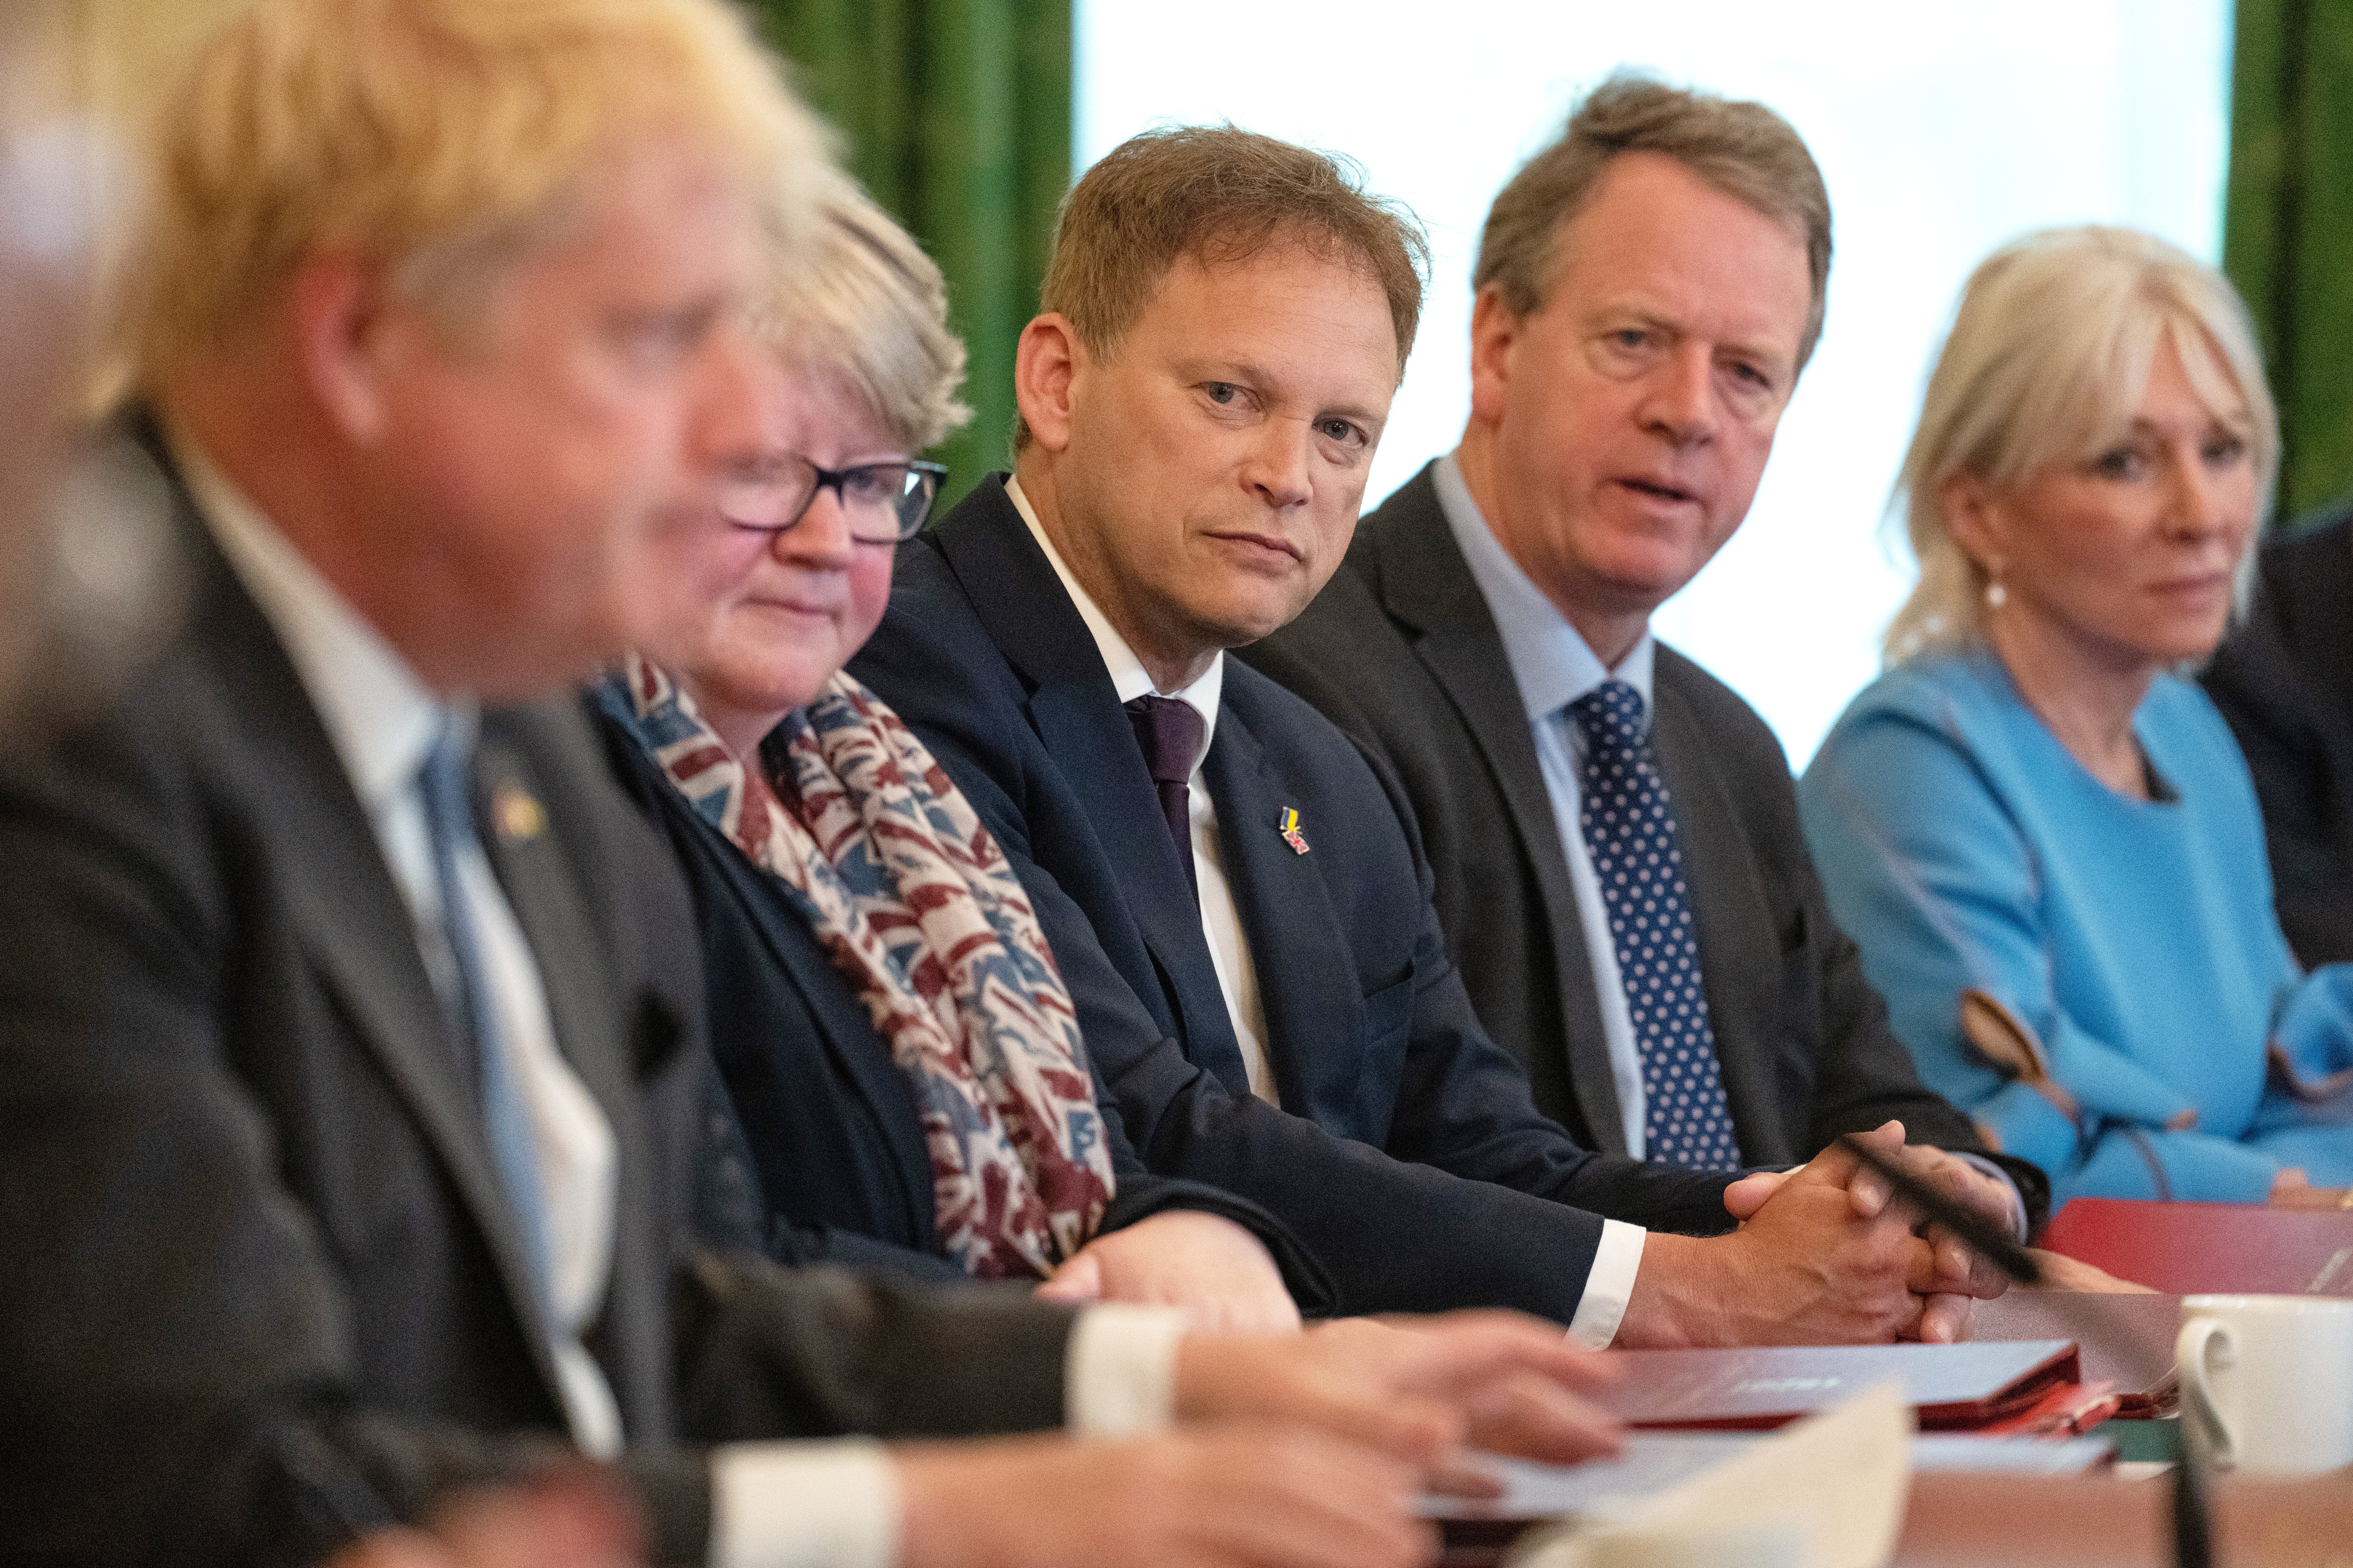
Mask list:
[{"label": "right-hand lapel of the suit worn with the spotted blue tie", "polygon": [[[1765,1081],[1772,1041],[1758,1039],[1758,1020],[1779,1013],[1772,985],[1781,973],[1781,938],[1765,919],[1772,903],[1748,858],[1732,795],[1708,764],[1706,733],[1664,665],[1661,651],[1659,679],[1652,684],[1652,752],[1675,802],[1682,863],[1708,867],[1706,877],[1685,877],[1685,886],[1692,896],[1692,924],[1699,929],[1699,973],[1725,1100],[1739,1128],[1741,1154],[1751,1161],[1784,1159],[1795,1138],[1781,1126],[1781,1107]],[[1760,1135],[1762,1128],[1774,1128],[1772,1143]]]}]

